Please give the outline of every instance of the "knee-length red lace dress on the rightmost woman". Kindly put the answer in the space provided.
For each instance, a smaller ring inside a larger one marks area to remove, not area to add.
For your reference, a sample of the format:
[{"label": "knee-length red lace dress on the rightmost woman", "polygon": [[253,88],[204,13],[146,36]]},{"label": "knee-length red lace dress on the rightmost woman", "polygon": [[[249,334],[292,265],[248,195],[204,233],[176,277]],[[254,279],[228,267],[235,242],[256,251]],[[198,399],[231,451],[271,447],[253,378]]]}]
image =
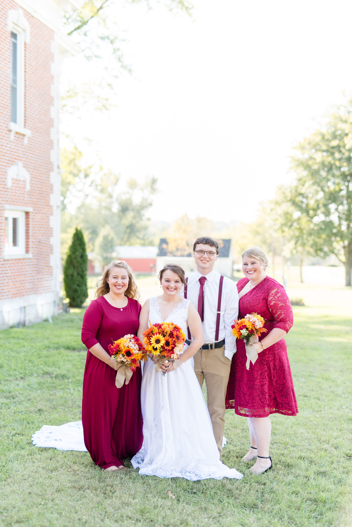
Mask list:
[{"label": "knee-length red lace dress on the rightmost woman", "polygon": [[[237,282],[237,290],[248,283],[248,278]],[[273,328],[286,331],[292,327],[293,315],[290,300],[277,280],[267,276],[250,289],[239,301],[239,319],[250,313],[258,313],[265,319],[262,340]],[[234,408],[244,417],[267,417],[273,413],[296,415],[296,395],[286,342],[282,338],[276,344],[258,354],[254,364],[246,369],[244,340],[237,339],[237,352],[231,364],[226,392],[226,408]]]}]

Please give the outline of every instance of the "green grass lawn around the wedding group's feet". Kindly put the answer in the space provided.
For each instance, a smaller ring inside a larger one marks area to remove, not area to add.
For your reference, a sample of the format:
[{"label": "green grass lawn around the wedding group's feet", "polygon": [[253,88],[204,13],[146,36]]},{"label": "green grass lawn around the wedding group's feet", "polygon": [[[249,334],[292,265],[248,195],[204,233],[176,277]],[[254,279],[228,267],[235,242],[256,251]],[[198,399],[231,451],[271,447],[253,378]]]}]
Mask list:
[{"label": "green grass lawn around the wedding group's feet", "polygon": [[[297,417],[272,416],[273,470],[254,476],[246,419],[226,413],[224,461],[241,481],[107,473],[87,453],[37,448],[43,424],[81,417],[83,313],[0,332],[0,525],[335,526],[352,495],[351,318],[294,309],[287,341]],[[129,464],[129,461],[126,461]],[[175,494],[169,499],[167,491]]]}]

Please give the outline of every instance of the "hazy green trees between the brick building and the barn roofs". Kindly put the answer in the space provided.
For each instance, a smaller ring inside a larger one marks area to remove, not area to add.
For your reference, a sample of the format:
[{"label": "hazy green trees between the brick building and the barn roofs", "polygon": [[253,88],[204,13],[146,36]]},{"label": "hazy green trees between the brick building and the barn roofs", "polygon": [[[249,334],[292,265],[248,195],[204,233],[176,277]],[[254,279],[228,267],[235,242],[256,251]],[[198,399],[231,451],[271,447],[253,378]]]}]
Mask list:
[{"label": "hazy green trees between the brick building and the barn roofs", "polygon": [[147,213],[157,192],[157,180],[125,184],[119,175],[99,164],[82,164],[75,146],[61,151],[62,257],[75,227],[82,229],[87,250],[102,265],[111,261],[117,245],[149,245]]}]

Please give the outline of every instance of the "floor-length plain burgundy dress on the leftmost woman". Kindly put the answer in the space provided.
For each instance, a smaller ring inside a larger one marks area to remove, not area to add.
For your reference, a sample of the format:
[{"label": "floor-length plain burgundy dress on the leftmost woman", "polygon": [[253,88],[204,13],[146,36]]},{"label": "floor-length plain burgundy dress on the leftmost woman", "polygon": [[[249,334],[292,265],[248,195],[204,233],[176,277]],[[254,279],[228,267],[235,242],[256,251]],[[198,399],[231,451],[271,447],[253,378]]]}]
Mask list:
[{"label": "floor-length plain burgundy dress on the leftmost woman", "polygon": [[142,446],[140,405],[141,369],[137,368],[128,385],[115,385],[116,372],[89,349],[108,345],[127,334],[137,334],[141,306],[128,299],[126,307],[111,306],[103,296],[93,300],[85,311],[82,342],[88,348],[83,378],[82,423],[84,444],[92,460],[102,469],[122,465]]}]

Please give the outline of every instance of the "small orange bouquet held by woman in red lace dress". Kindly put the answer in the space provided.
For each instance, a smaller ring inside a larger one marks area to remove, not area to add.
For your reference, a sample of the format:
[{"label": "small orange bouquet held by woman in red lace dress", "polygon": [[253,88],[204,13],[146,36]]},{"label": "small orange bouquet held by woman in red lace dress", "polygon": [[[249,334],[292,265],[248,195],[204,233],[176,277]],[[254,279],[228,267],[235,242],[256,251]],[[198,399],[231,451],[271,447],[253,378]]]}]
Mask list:
[{"label": "small orange bouquet held by woman in red lace dress", "polygon": [[254,364],[258,359],[258,353],[256,353],[253,344],[259,341],[259,335],[268,331],[263,326],[265,320],[258,313],[251,313],[246,315],[241,320],[235,320],[235,323],[231,326],[232,333],[235,337],[245,340],[246,347],[246,368],[249,369],[250,362]]}]

